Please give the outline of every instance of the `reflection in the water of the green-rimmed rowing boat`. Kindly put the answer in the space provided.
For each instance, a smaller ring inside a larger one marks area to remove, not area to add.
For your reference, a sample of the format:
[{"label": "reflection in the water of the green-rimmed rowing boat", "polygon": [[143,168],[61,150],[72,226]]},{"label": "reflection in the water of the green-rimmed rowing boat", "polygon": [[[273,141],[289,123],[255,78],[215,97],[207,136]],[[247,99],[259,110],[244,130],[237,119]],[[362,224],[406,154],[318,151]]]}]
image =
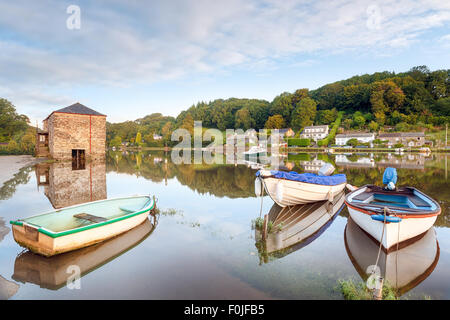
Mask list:
[{"label": "reflection in the water of the green-rimmed rowing boat", "polygon": [[150,215],[141,225],[115,238],[83,249],[46,258],[30,251],[19,254],[14,264],[12,278],[22,283],[34,283],[41,288],[58,290],[72,276],[69,266],[80,268],[81,276],[114,260],[134,248],[152,234],[158,221]]}]

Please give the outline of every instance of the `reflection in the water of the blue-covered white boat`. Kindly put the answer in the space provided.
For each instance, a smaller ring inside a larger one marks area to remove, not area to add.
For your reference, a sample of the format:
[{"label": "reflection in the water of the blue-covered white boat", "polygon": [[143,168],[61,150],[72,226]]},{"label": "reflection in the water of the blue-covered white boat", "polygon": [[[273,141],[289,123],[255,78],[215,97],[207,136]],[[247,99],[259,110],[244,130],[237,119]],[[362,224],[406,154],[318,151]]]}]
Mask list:
[{"label": "reflection in the water of the blue-covered white boat", "polygon": [[255,227],[260,264],[280,259],[317,239],[344,207],[342,191],[333,201],[280,207],[276,203],[267,214],[270,231],[264,239],[262,228]]}]

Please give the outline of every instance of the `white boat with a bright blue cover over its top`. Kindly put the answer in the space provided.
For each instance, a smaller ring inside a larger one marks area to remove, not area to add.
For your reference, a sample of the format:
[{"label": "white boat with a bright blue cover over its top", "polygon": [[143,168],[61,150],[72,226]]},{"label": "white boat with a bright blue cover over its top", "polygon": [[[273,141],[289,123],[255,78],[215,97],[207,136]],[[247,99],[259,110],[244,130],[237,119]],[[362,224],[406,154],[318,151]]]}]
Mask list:
[{"label": "white boat with a bright blue cover over its top", "polygon": [[265,190],[280,207],[333,201],[347,183],[345,174],[320,176],[309,172],[299,174],[293,171],[260,170],[256,176],[256,195],[262,195]]}]

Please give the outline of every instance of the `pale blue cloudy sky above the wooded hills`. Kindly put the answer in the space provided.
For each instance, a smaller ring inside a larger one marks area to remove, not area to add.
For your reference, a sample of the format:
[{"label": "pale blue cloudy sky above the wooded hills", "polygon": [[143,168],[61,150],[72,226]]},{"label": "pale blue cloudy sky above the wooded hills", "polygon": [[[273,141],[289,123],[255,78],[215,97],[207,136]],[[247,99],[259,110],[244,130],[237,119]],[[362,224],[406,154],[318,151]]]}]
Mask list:
[{"label": "pale blue cloudy sky above the wooded hills", "polygon": [[420,65],[450,69],[450,1],[0,0],[0,97],[33,125],[75,102],[177,116]]}]

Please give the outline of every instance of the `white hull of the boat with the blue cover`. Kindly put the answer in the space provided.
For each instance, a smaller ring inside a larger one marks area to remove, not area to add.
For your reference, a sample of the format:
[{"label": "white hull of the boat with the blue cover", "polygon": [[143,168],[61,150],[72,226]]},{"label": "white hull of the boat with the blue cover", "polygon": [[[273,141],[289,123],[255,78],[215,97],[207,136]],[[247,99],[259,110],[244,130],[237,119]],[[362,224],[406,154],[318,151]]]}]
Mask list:
[{"label": "white hull of the boat with the blue cover", "polygon": [[[334,197],[342,192],[346,185],[346,183],[341,183],[327,186],[272,177],[264,178],[263,182],[265,191],[280,207],[324,200],[333,201]],[[280,192],[280,189],[282,192]]]}]

